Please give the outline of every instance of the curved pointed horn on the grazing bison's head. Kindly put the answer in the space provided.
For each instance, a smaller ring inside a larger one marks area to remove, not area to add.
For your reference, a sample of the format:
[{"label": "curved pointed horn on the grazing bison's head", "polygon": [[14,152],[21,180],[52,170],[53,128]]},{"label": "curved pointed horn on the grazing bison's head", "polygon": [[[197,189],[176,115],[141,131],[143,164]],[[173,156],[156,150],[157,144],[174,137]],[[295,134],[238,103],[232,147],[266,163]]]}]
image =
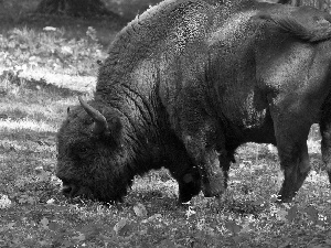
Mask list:
[{"label": "curved pointed horn on the grazing bison's head", "polygon": [[82,107],[85,109],[85,111],[94,119],[94,125],[93,125],[93,132],[98,134],[108,129],[108,123],[106,120],[106,117],[103,116],[98,110],[93,108],[90,105],[85,103],[82,97],[78,97],[78,100],[82,105]]}]

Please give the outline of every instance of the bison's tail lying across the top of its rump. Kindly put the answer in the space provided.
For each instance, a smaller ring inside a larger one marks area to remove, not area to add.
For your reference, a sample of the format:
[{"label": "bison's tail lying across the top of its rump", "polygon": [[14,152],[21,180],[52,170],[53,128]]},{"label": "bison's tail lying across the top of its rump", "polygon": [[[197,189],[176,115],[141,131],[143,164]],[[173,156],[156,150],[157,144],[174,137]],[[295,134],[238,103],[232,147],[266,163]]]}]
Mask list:
[{"label": "bison's tail lying across the top of its rump", "polygon": [[313,43],[331,39],[331,23],[329,19],[322,19],[320,22],[316,22],[314,26],[310,28],[287,15],[258,14],[255,18],[274,23],[273,26],[268,26],[269,29],[286,32],[302,41]]}]

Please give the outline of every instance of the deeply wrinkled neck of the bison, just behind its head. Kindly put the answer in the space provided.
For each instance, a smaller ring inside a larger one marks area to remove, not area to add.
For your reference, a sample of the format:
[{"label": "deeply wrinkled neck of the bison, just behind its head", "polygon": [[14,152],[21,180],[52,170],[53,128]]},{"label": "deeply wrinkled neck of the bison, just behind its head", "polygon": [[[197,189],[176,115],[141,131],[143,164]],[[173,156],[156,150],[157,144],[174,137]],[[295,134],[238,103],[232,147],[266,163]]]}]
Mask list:
[{"label": "deeply wrinkled neck of the bison, just behind its head", "polygon": [[136,164],[134,166],[143,169],[139,171],[143,173],[158,169],[154,168],[159,164],[157,160],[163,157],[160,131],[164,130],[164,112],[160,110],[158,82],[151,69],[148,73],[137,69],[125,78],[121,83],[109,84],[103,90],[99,88],[95,97],[102,98],[120,115],[125,147],[130,150],[132,164]]}]

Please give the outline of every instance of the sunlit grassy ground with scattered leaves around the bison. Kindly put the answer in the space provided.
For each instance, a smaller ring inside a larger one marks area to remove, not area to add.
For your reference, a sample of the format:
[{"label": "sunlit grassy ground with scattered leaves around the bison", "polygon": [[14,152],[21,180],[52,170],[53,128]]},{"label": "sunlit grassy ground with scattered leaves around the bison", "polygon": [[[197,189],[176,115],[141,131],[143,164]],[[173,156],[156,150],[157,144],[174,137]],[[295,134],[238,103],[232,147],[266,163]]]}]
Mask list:
[{"label": "sunlit grassy ground with scattered leaves around the bison", "polygon": [[291,204],[274,203],[282,181],[275,149],[254,143],[237,151],[218,201],[200,195],[178,206],[166,170],[137,177],[116,205],[64,198],[54,175],[56,131],[77,96],[93,96],[96,61],[106,56],[98,31],[83,26],[76,39],[71,30],[8,24],[0,36],[1,248],[331,246],[317,127],[308,142],[312,171]]}]

